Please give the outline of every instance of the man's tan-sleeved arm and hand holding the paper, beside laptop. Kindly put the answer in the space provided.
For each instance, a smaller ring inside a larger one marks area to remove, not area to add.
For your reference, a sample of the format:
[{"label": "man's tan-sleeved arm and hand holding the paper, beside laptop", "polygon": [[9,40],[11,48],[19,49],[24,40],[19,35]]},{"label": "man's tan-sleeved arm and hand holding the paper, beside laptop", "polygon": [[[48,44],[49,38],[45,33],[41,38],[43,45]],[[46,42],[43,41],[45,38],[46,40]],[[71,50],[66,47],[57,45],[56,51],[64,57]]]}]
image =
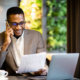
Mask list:
[{"label": "man's tan-sleeved arm and hand holding the paper, beside laptop", "polygon": [[[37,46],[37,53],[45,52],[43,39],[40,33],[38,33],[38,46]],[[45,64],[44,69],[40,69],[39,71],[33,72],[33,75],[47,75],[48,66]]]}]

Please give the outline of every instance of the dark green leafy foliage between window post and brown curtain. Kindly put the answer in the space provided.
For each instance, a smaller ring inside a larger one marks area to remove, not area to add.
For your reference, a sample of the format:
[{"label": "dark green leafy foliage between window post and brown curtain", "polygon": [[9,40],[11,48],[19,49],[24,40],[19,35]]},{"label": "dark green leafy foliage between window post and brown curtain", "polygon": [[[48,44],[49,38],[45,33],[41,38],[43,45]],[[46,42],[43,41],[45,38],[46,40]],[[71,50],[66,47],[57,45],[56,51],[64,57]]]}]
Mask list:
[{"label": "dark green leafy foliage between window post and brown curtain", "polygon": [[47,0],[47,49],[66,50],[66,0]]}]

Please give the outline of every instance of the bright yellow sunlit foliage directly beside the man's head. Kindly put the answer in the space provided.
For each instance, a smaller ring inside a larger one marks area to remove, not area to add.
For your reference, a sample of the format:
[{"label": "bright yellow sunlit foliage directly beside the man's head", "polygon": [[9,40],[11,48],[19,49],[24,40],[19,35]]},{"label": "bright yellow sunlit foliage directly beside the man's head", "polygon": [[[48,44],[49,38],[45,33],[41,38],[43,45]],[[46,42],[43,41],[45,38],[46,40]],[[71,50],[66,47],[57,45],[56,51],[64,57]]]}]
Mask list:
[{"label": "bright yellow sunlit foliage directly beside the man's head", "polygon": [[42,33],[42,1],[21,0],[19,7],[23,9],[25,20],[30,24],[27,28]]}]

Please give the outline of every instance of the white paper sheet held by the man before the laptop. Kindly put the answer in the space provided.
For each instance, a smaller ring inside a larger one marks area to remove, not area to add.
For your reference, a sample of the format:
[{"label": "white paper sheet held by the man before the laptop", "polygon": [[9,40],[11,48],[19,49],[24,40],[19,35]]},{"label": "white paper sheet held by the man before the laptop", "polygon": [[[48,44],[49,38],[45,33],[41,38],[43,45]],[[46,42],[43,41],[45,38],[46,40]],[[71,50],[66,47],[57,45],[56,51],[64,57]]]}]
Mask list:
[{"label": "white paper sheet held by the man before the laptop", "polygon": [[16,73],[35,72],[43,69],[46,60],[46,52],[21,56],[20,66]]}]

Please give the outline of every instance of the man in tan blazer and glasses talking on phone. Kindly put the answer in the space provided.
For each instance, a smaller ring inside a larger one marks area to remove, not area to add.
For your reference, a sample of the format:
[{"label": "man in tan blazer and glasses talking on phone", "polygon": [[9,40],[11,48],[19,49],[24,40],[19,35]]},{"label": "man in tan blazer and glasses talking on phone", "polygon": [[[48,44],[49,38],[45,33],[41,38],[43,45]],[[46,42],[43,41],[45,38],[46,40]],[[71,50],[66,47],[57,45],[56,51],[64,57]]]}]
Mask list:
[{"label": "man in tan blazer and glasses talking on phone", "polygon": [[[6,30],[0,34],[0,68],[5,68],[9,75],[15,75],[20,65],[21,55],[44,52],[41,34],[25,30],[25,19],[22,9],[11,7],[7,10]],[[46,75],[40,69],[34,75]]]}]

